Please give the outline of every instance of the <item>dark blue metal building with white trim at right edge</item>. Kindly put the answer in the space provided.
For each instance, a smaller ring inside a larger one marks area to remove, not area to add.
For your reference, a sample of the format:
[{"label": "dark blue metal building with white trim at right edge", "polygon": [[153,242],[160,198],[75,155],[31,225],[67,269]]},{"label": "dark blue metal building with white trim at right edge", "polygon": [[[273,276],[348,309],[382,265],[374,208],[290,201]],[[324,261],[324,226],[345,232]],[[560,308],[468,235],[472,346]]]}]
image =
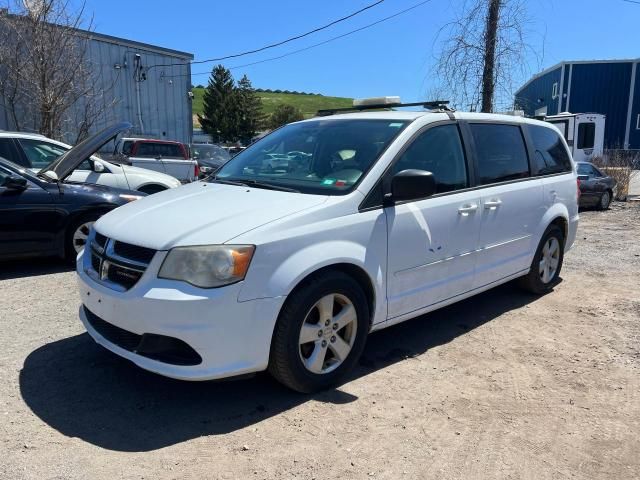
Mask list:
[{"label": "dark blue metal building with white trim at right edge", "polygon": [[640,149],[639,63],[561,62],[525,83],[515,94],[515,108],[528,116],[602,113],[607,148]]}]

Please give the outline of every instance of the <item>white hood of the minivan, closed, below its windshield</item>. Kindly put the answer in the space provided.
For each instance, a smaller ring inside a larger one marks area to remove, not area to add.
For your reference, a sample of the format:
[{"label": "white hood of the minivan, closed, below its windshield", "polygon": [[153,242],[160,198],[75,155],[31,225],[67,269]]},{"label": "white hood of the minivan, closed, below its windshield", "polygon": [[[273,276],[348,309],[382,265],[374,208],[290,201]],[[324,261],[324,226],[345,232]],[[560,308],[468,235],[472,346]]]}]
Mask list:
[{"label": "white hood of the minivan, closed, below its windshield", "polygon": [[222,244],[327,199],[324,195],[195,182],[113,210],[95,227],[107,237],[154,250]]}]

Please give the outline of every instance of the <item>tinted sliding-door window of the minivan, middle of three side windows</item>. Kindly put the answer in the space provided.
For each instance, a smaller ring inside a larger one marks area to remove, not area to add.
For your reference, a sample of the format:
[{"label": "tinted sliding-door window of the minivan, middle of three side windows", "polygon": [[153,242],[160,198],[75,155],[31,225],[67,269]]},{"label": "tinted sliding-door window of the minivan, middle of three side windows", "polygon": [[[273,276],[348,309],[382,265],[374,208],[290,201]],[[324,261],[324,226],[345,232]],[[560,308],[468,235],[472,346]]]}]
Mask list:
[{"label": "tinted sliding-door window of the minivan, middle of three side windows", "polygon": [[481,185],[527,178],[529,161],[517,125],[471,124]]}]

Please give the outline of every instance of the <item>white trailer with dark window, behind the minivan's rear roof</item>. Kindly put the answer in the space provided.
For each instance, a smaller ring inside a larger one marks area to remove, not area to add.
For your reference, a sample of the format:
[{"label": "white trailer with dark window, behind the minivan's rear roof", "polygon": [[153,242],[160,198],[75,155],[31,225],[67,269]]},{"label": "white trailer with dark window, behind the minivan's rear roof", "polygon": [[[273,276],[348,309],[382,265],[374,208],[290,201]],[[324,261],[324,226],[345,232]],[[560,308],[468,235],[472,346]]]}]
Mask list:
[{"label": "white trailer with dark window, behind the minivan's rear roof", "polygon": [[601,113],[569,113],[545,117],[562,133],[576,162],[591,162],[604,152],[606,115]]}]

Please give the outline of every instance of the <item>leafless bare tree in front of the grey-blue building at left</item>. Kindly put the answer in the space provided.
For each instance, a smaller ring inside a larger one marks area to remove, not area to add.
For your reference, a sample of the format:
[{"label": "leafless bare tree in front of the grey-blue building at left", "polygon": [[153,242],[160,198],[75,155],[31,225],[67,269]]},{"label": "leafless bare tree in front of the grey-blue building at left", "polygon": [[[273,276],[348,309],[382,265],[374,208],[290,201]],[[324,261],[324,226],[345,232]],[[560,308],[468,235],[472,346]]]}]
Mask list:
[{"label": "leafless bare tree in front of the grey-blue building at left", "polygon": [[17,130],[52,138],[72,131],[82,139],[115,103],[105,99],[113,85],[99,88],[89,40],[79,34],[93,29],[85,3],[72,8],[70,0],[42,0],[27,9],[7,1],[0,14],[0,101]]}]

